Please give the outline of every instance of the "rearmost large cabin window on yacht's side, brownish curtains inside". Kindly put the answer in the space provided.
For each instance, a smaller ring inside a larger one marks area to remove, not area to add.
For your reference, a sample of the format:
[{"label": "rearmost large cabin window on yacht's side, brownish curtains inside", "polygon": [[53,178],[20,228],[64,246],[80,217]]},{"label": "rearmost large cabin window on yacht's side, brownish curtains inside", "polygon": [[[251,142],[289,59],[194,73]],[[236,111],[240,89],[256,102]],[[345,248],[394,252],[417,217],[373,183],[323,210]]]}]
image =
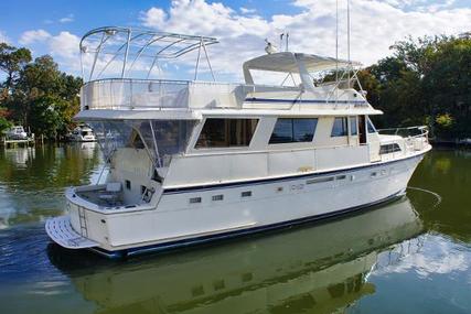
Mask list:
[{"label": "rearmost large cabin window on yacht's side, brownish curtains inside", "polygon": [[196,149],[248,147],[258,119],[206,119]]}]

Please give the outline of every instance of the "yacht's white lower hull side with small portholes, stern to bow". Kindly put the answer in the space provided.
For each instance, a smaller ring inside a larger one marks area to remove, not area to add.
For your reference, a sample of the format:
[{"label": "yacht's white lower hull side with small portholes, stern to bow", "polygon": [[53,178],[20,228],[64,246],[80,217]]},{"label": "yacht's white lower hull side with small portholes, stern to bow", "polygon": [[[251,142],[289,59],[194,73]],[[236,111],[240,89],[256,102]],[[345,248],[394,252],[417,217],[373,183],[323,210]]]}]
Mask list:
[{"label": "yacht's white lower hull side with small portholes, stern to bow", "polygon": [[[99,243],[90,249],[117,258],[289,228],[400,197],[422,155],[296,177],[171,188],[150,210],[82,212],[87,225],[82,235]],[[190,202],[195,198],[201,203]],[[68,210],[79,232],[79,209]]]}]

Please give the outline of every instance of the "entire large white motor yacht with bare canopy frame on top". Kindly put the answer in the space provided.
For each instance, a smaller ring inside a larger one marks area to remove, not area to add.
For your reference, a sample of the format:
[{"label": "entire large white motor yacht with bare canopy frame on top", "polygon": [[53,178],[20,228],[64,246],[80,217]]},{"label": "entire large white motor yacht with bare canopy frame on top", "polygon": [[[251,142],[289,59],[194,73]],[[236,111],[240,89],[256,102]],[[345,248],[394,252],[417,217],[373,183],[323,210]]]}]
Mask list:
[{"label": "entire large white motor yacht with bare canopy frame on top", "polygon": [[[267,50],[244,63],[244,83],[199,80],[204,58],[214,78],[207,46],[216,43],[127,28],[82,39],[83,57],[92,56],[83,64],[92,67],[76,118],[95,130],[107,171],[66,191],[66,215],[45,225],[55,242],[131,256],[287,228],[405,194],[431,149],[428,131],[376,130],[370,117],[383,112],[361,89],[358,63]],[[151,78],[172,61],[189,73],[192,52],[193,79]],[[285,79],[257,84],[257,73]]]}]

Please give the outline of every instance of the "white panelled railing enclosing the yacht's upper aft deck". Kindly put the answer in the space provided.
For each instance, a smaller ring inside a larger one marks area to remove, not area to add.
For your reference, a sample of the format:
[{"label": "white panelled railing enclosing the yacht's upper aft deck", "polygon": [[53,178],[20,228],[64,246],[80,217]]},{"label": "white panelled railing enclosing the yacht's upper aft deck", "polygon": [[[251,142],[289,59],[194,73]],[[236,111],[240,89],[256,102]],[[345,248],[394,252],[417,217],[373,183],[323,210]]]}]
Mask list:
[{"label": "white panelled railing enclosing the yacht's upper aft deck", "polygon": [[[242,108],[247,95],[257,89],[245,84],[117,78],[88,82],[81,98],[82,110]],[[263,91],[291,89],[264,87]]]}]

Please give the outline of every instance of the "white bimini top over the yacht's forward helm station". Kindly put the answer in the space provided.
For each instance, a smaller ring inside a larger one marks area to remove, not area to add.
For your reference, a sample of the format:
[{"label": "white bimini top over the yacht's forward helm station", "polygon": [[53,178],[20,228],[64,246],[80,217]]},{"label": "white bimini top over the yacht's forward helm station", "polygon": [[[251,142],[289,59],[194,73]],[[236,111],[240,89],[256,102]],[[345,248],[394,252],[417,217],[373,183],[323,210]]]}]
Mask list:
[{"label": "white bimini top over the yacht's forward helm station", "polygon": [[244,63],[244,77],[247,84],[254,84],[250,69],[281,73],[313,73],[334,68],[361,66],[358,62],[349,62],[313,54],[280,52],[266,54]]}]

